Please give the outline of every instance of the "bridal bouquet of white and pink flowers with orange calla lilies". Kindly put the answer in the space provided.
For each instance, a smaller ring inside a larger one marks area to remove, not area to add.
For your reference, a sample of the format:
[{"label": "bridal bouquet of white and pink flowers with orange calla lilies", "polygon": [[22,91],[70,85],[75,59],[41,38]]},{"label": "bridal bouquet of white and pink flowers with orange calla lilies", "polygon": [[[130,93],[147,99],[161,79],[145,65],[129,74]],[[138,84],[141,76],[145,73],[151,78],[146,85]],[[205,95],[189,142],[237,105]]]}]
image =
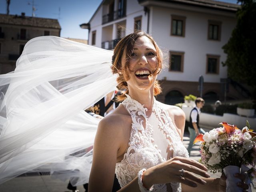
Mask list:
[{"label": "bridal bouquet of white and pink flowers with orange calla lilies", "polygon": [[201,141],[199,162],[213,173],[224,171],[227,177],[227,192],[242,191],[242,188],[236,186],[239,179],[233,176],[238,172],[250,172],[252,177],[255,175],[256,133],[250,130],[248,121],[242,130],[226,122],[220,124],[223,127],[210,130],[204,135],[200,134],[194,140],[194,144]]}]

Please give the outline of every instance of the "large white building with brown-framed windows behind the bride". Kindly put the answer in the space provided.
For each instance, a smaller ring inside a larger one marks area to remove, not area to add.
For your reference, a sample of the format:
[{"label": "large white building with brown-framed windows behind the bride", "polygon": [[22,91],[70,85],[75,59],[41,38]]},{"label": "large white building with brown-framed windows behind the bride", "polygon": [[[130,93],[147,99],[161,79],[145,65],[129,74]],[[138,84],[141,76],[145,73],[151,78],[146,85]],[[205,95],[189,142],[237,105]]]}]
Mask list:
[{"label": "large white building with brown-framed windows behind the bride", "polygon": [[[236,26],[238,7],[214,0],[103,0],[81,27],[89,28],[89,45],[105,49],[136,29],[151,34],[168,65],[158,75],[163,88],[158,100],[176,103],[184,95],[200,96],[200,75],[203,97],[223,100],[227,68],[222,46]],[[243,98],[231,84],[226,88],[227,98]]]}]

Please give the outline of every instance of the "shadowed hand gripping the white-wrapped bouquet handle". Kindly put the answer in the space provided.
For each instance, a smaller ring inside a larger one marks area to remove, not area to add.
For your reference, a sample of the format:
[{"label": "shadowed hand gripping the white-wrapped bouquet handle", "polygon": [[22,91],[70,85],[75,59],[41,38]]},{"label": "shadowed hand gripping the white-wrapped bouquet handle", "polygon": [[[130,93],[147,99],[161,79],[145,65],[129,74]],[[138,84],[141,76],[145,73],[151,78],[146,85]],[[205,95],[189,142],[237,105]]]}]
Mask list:
[{"label": "shadowed hand gripping the white-wrapped bouquet handle", "polygon": [[[247,192],[246,190],[249,189],[248,184],[244,183],[246,180],[246,176],[244,174],[235,174],[236,178],[239,178],[241,182],[237,183],[237,186],[243,189],[243,192]],[[219,178],[218,182],[218,189],[220,192],[226,192],[226,176],[224,173],[222,173],[221,177]]]}]

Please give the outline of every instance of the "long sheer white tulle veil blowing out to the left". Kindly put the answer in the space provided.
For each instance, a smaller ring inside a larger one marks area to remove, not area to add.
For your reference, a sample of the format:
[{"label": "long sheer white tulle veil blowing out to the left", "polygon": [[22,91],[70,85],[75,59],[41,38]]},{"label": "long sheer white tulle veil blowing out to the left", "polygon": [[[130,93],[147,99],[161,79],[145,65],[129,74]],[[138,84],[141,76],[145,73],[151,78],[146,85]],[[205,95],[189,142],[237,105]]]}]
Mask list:
[{"label": "long sheer white tulle veil blowing out to the left", "polygon": [[0,183],[28,171],[88,182],[99,120],[84,109],[116,88],[112,54],[55,36],[25,45],[0,75]]}]

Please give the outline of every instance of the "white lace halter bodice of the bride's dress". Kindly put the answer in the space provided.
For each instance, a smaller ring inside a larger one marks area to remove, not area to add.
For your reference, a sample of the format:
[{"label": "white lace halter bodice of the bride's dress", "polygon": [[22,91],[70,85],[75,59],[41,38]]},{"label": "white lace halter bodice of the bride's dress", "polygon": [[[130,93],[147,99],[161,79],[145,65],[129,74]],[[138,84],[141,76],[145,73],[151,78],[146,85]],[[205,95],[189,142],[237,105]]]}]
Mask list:
[{"label": "white lace halter bodice of the bride's dress", "polygon": [[[162,103],[154,99],[150,117],[146,116],[148,109],[128,95],[122,105],[132,118],[132,129],[124,158],[116,163],[115,172],[121,187],[131,182],[143,168],[148,169],[174,156],[188,157],[188,151]],[[154,132],[165,138],[164,143],[159,143],[164,150],[157,146]],[[181,191],[180,183],[170,184],[173,192]],[[152,191],[166,192],[166,184],[155,184]]]}]

